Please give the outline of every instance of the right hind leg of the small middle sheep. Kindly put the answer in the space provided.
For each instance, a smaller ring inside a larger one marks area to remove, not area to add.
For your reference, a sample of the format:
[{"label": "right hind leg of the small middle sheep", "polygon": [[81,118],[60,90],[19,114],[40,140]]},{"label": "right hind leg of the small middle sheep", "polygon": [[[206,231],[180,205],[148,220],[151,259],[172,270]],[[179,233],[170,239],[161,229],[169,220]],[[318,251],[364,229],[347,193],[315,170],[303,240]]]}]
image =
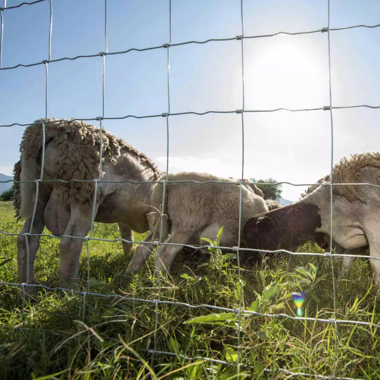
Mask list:
[{"label": "right hind leg of the small middle sheep", "polygon": [[[193,232],[180,232],[180,231],[173,231],[170,235],[169,239],[166,241],[166,243],[177,243],[177,244],[186,244],[190,237],[192,236]],[[158,255],[155,257],[155,266],[156,266],[156,272],[165,274],[166,272],[169,273],[170,266],[172,265],[173,259],[175,255],[180,251],[182,248],[181,245],[179,246],[172,246],[172,245],[164,245],[159,248],[160,250],[160,261],[158,260]]]}]

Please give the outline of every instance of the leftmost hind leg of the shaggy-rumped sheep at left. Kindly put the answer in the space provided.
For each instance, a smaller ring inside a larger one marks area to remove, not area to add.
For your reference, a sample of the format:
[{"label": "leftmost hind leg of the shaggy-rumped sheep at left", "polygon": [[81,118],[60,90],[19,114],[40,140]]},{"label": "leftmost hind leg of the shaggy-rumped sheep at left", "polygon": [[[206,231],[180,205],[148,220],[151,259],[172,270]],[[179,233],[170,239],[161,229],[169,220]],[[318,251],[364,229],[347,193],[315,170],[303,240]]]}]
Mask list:
[{"label": "leftmost hind leg of the shaggy-rumped sheep at left", "polygon": [[[36,215],[33,222],[32,234],[42,234],[45,224],[44,224],[44,208],[45,203],[38,203],[36,209]],[[32,223],[32,218],[28,218],[21,230],[21,234],[29,233],[30,226]],[[40,247],[40,236],[29,236],[28,238],[28,248],[29,248],[29,279],[27,279],[28,272],[28,251],[27,251],[27,241],[25,236],[19,235],[17,237],[17,264],[19,270],[19,283],[35,284],[34,281],[34,261],[36,260],[36,255],[38,248]],[[26,294],[36,295],[38,293],[35,286],[26,286],[24,288]],[[21,291],[19,291],[21,295]]]}]

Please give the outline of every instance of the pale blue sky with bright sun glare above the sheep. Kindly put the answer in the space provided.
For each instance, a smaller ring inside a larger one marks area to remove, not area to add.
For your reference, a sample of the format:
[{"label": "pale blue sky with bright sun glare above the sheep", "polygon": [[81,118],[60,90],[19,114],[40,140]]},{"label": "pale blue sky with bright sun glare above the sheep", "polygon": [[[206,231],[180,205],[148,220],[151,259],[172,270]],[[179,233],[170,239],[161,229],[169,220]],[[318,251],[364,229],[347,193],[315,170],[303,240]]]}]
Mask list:
[{"label": "pale blue sky with bright sun glare above the sheep", "polygon": [[[7,0],[11,7],[21,0]],[[330,27],[380,23],[380,2],[331,0]],[[52,59],[104,51],[104,0],[52,0]],[[108,52],[169,42],[169,0],[108,0]],[[244,35],[308,31],[327,26],[327,2],[243,1]],[[49,2],[6,10],[3,67],[48,58]],[[240,35],[240,0],[172,0],[172,43]],[[380,28],[331,31],[332,103],[380,105]],[[105,116],[167,112],[166,50],[107,56]],[[170,48],[171,112],[241,108],[240,42]],[[49,64],[48,116],[101,115],[102,59]],[[244,40],[245,109],[315,108],[329,104],[327,33]],[[0,124],[45,115],[43,65],[0,71]],[[240,177],[237,114],[172,116],[169,171]],[[334,161],[378,150],[380,109],[333,111]],[[96,122],[94,122],[96,123]],[[105,120],[105,128],[166,167],[166,122]],[[24,127],[0,128],[0,172],[19,158]],[[244,177],[315,182],[329,172],[328,111],[245,113]],[[284,186],[295,201],[302,188]]]}]

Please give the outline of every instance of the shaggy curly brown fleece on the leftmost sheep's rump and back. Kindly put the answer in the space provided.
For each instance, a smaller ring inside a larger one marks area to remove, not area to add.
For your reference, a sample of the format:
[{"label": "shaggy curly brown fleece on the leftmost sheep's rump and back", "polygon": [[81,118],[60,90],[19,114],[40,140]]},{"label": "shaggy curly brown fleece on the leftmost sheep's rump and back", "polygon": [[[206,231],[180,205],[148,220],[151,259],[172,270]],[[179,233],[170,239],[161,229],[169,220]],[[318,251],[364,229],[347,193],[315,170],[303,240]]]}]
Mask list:
[{"label": "shaggy curly brown fleece on the leftmost sheep's rump and back", "polygon": [[[15,180],[21,180],[23,159],[34,160],[42,148],[43,121],[45,119],[36,120],[25,129],[20,144],[21,159],[14,168]],[[59,157],[51,179],[93,180],[99,177],[100,128],[84,121],[48,119],[48,122],[45,123],[45,136],[46,141],[53,139],[54,146],[57,149],[57,157]],[[121,150],[132,153],[141,162],[148,164],[155,172],[155,180],[162,175],[162,172],[144,153],[103,128],[102,161],[109,160],[116,163]],[[101,173],[101,175],[103,174],[104,172]],[[33,183],[31,185],[34,186]],[[90,200],[94,192],[92,182],[74,181],[70,182],[68,186],[70,187],[71,199],[82,204],[92,203]],[[21,208],[20,183],[15,182],[14,188],[14,207],[16,216],[19,216]]]}]

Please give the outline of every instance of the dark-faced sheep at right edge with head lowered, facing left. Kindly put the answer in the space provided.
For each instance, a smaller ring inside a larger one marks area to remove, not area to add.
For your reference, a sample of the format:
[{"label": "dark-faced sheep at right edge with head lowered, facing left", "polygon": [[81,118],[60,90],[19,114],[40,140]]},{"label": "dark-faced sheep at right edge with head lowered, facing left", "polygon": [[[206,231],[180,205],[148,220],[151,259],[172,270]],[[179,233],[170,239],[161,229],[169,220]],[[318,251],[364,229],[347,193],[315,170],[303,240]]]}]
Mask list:
[{"label": "dark-faced sheep at right edge with head lowered, facing left", "polygon": [[[323,180],[330,180],[326,176]],[[321,180],[321,182],[323,181]],[[333,168],[333,183],[380,184],[380,152],[354,154]],[[315,186],[310,194],[292,205],[255,216],[243,228],[247,247],[265,250],[293,250],[322,233],[330,234],[330,186]],[[333,186],[334,245],[344,253],[357,253],[369,245],[370,254],[380,258],[380,189],[366,185]],[[327,240],[327,239],[324,239]],[[351,259],[344,260],[349,266]],[[380,261],[371,260],[376,281],[380,280]]]}]

